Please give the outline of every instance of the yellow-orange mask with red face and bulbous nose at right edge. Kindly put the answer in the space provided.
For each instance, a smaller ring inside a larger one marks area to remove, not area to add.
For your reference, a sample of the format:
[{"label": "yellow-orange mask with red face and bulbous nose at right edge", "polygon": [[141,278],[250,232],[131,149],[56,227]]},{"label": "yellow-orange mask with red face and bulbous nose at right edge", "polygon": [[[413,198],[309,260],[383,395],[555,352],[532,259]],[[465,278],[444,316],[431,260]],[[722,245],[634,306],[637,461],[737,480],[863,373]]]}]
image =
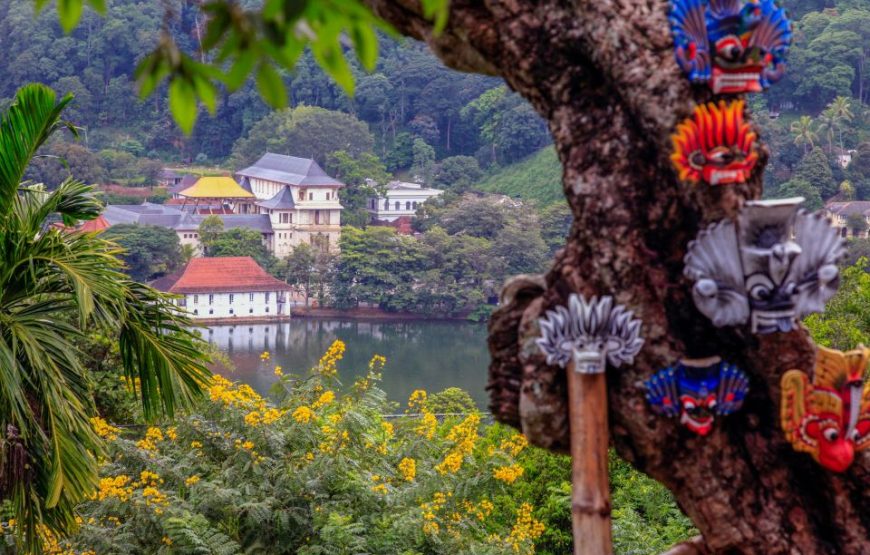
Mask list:
[{"label": "yellow-orange mask with red face and bulbous nose at right edge", "polygon": [[843,472],[855,453],[870,448],[870,349],[819,347],[813,380],[800,370],[782,376],[782,430],[796,451]]}]

